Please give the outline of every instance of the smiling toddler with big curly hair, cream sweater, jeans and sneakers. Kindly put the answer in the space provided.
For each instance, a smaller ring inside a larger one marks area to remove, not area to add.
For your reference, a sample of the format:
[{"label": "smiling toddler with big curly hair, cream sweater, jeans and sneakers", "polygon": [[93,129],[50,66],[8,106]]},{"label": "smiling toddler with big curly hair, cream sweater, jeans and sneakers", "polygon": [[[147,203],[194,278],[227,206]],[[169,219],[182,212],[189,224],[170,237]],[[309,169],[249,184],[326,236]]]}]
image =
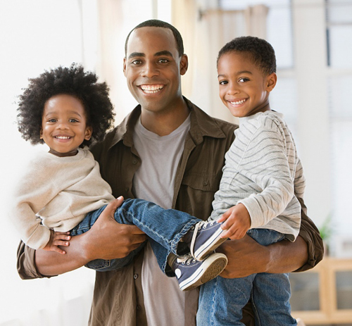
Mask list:
[{"label": "smiling toddler with big curly hair, cream sweater, jeans and sneakers", "polygon": [[[11,218],[28,246],[64,254],[59,246],[68,246],[70,236],[87,232],[113,201],[99,164],[84,147],[103,139],[113,125],[113,116],[106,83],[97,82],[94,73],[84,72],[79,65],[46,71],[30,80],[20,96],[18,130],[32,144],[47,144],[49,153],[40,153],[30,162],[15,190]],[[116,210],[115,220],[137,225],[151,238],[161,270],[165,272],[168,263],[182,290],[207,282],[227,264],[224,254],[213,252],[213,247],[224,241],[218,223],[141,199],[125,200]],[[169,254],[184,255],[189,246],[201,248],[206,259]],[[98,259],[87,267],[99,271],[121,268],[141,248],[126,258]]]}]

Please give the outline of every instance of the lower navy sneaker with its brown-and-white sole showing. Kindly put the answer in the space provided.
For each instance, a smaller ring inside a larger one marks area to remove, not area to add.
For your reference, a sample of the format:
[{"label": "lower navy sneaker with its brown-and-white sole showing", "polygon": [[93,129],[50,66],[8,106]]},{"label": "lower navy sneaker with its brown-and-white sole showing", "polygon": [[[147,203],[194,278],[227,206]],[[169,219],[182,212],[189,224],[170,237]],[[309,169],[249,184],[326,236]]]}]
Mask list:
[{"label": "lower navy sneaker with its brown-and-white sole showing", "polygon": [[178,257],[172,263],[182,291],[199,287],[217,277],[227,265],[227,257],[223,253],[213,253],[204,261],[196,261],[191,255]]}]

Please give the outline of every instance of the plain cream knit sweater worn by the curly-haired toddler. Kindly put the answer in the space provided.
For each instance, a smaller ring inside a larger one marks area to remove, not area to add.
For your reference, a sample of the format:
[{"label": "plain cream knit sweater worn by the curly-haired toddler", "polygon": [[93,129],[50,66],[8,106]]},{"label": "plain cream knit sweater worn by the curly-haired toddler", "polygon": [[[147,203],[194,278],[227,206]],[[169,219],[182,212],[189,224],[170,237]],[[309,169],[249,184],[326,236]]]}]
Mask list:
[{"label": "plain cream knit sweater worn by the curly-haired toddler", "polygon": [[113,200],[111,187],[87,149],[66,157],[40,153],[13,197],[11,218],[23,242],[33,249],[44,248],[49,229],[70,231],[87,213]]}]

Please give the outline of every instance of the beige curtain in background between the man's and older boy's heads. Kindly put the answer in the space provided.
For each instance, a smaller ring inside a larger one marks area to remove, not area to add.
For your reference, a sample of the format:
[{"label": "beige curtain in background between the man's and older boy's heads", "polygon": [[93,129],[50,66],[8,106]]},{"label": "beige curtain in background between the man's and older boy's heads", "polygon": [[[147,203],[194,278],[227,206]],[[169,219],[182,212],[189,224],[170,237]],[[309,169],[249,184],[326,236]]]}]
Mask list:
[{"label": "beige curtain in background between the man's and older boy's heads", "polygon": [[216,58],[223,45],[234,37],[266,37],[268,8],[263,5],[243,11],[202,9],[201,1],[173,0],[172,25],[180,30],[189,70],[182,80],[185,96],[216,118],[236,123],[218,96]]}]

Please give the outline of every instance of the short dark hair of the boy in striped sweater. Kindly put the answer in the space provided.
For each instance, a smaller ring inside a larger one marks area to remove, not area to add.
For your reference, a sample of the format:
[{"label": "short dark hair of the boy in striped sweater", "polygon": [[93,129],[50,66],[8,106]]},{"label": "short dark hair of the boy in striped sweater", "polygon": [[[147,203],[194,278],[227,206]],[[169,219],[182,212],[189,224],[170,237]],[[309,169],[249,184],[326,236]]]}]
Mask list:
[{"label": "short dark hair of the boy in striped sweater", "polygon": [[271,44],[266,42],[265,39],[259,39],[253,36],[232,39],[232,41],[228,42],[220,49],[218,60],[216,61],[217,65],[221,56],[232,51],[249,54],[253,58],[254,63],[259,66],[260,70],[262,70],[265,75],[276,73],[275,51]]}]

